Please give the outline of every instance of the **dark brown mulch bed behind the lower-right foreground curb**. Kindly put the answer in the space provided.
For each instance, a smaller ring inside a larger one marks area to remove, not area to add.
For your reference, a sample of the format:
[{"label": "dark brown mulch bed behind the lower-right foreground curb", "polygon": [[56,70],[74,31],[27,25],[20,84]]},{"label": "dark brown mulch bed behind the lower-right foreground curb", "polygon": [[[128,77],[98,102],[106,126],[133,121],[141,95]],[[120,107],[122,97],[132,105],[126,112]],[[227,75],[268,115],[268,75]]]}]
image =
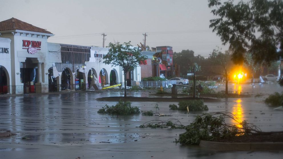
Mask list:
[{"label": "dark brown mulch bed behind the lower-right foreground curb", "polygon": [[216,142],[283,142],[283,134],[244,135],[230,139],[219,139]]}]

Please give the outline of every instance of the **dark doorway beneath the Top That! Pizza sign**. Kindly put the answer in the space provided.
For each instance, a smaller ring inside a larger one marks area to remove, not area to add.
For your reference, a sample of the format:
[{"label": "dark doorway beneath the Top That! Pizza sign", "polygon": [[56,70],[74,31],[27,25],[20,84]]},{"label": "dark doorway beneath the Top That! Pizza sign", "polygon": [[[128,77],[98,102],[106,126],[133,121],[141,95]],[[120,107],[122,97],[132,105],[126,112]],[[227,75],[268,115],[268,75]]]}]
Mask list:
[{"label": "dark doorway beneath the Top That! Pizza sign", "polygon": [[24,93],[35,93],[37,82],[37,58],[27,58],[20,63],[21,83],[24,83]]}]

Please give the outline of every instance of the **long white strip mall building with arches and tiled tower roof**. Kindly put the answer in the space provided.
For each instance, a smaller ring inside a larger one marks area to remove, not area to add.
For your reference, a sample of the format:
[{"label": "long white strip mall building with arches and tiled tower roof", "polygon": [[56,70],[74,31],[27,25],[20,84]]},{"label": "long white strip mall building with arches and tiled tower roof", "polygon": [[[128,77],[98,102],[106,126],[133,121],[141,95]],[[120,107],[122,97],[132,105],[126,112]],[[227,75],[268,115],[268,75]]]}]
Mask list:
[{"label": "long white strip mall building with arches and tiled tower roof", "polygon": [[[121,67],[102,62],[107,48],[50,43],[50,36],[15,18],[0,22],[0,93],[100,89],[124,82]],[[138,66],[127,81],[140,81],[140,72]]]}]

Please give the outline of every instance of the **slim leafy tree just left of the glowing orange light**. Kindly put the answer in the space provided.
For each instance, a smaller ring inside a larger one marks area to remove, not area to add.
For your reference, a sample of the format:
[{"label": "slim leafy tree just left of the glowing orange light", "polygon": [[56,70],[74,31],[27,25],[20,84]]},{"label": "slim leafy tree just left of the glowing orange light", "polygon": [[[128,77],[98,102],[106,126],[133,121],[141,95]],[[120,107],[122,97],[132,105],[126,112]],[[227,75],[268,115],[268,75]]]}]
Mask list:
[{"label": "slim leafy tree just left of the glowing orange light", "polygon": [[[225,51],[223,54],[219,49],[213,50],[210,54],[209,60],[212,62],[214,66],[219,66],[220,69],[215,67],[216,74],[221,74],[226,78],[225,83],[225,94],[228,94],[228,82],[229,82],[229,75],[232,70],[233,62],[231,61],[231,52]],[[222,69],[221,69],[222,68]],[[222,71],[222,72],[221,72]]]}]

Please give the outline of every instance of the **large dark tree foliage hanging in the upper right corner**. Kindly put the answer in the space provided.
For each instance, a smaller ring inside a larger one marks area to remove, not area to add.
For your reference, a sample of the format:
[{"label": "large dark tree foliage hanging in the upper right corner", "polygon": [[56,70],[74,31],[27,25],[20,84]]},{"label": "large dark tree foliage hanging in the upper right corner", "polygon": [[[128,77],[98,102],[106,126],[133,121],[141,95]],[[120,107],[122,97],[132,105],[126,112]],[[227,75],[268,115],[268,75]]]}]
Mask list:
[{"label": "large dark tree foliage hanging in the upper right corner", "polygon": [[[251,0],[234,4],[233,0],[221,3],[209,0],[210,28],[221,37],[224,45],[230,44],[235,64],[246,61],[250,54],[254,64],[270,64],[283,56],[283,1]],[[280,50],[278,46],[280,45]]]}]

